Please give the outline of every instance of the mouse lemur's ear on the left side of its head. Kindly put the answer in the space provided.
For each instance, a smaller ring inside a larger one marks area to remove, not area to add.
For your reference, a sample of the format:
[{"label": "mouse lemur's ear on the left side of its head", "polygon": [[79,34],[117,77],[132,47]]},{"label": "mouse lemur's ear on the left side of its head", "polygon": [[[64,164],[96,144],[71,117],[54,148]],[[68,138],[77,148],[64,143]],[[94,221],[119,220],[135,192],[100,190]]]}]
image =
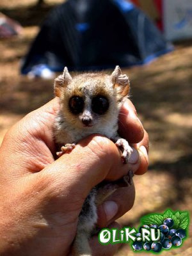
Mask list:
[{"label": "mouse lemur's ear on the left side of its head", "polygon": [[70,76],[67,67],[64,68],[63,74],[54,79],[54,94],[57,97],[61,96],[62,88],[67,86],[72,81],[72,77]]}]

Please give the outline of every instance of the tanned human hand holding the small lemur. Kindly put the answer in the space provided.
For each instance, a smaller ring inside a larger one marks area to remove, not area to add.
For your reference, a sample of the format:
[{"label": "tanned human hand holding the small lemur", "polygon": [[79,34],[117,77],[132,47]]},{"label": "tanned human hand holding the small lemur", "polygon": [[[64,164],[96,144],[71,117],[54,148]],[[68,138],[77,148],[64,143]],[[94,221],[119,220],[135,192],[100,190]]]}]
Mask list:
[{"label": "tanned human hand holding the small lemur", "polygon": [[[120,132],[132,143],[140,141],[134,147],[147,147],[147,136],[143,138],[143,128],[134,111],[130,114],[131,109],[131,105],[122,109],[129,113],[127,117],[122,115]],[[7,132],[1,145],[0,255],[68,255],[78,215],[90,189],[103,179],[119,179],[128,168],[139,174],[147,169],[145,150],[138,150],[138,159],[127,166],[122,164],[115,144],[102,136],[85,138],[70,154],[54,161],[52,124],[57,110],[58,100],[54,99],[29,113]],[[108,202],[100,205],[101,227],[131,209],[134,186],[125,189],[126,193],[118,189],[110,198],[116,204],[112,211]],[[129,202],[122,194],[129,194]],[[96,238],[91,242],[97,244],[95,255],[103,255],[106,246],[99,248]],[[111,255],[118,246],[109,247]]]}]

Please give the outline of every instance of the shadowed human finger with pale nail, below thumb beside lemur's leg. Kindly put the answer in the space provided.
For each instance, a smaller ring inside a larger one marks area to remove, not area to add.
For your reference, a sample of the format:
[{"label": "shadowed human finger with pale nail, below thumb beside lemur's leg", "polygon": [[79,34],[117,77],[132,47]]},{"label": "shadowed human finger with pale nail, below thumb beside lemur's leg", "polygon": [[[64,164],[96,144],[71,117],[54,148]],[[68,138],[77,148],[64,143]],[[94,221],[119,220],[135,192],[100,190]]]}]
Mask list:
[{"label": "shadowed human finger with pale nail, below thumb beside lemur's leg", "polygon": [[108,199],[97,207],[99,227],[106,227],[109,223],[120,218],[129,211],[134,204],[134,184],[125,188],[118,188]]}]

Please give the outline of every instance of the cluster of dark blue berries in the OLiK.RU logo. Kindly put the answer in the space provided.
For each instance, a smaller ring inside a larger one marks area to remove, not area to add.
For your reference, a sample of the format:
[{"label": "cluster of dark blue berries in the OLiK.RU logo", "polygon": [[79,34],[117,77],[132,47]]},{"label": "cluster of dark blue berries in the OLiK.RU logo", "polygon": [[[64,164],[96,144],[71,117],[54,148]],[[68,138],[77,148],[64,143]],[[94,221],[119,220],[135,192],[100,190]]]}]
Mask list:
[{"label": "cluster of dark blue berries in the OLiK.RU logo", "polygon": [[[174,225],[174,221],[172,220],[172,218],[166,218],[163,221],[163,225],[160,225],[159,227],[155,224],[151,224],[151,225],[143,225],[140,227],[139,229],[139,233],[136,234],[136,241],[134,241],[134,243],[132,244],[132,248],[134,248],[134,250],[146,250],[146,251],[154,251],[154,252],[161,252],[162,249],[170,249],[173,246],[180,246],[180,244],[182,244],[182,239],[184,237],[186,237],[186,231],[182,228],[179,229],[174,229],[173,228]],[[157,242],[145,242],[143,243],[141,241],[141,228],[159,228],[160,230],[160,239]]]}]

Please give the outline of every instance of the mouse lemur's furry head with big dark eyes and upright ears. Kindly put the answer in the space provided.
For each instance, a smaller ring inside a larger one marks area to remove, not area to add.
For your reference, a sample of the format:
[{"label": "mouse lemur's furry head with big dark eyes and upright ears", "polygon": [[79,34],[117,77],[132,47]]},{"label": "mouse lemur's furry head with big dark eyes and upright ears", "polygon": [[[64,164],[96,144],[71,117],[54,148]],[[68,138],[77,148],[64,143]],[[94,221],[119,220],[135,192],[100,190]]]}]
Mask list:
[{"label": "mouse lemur's furry head with big dark eyes and upright ears", "polygon": [[122,75],[118,66],[110,76],[99,72],[73,78],[65,67],[54,81],[54,93],[60,97],[63,118],[76,127],[89,129],[111,124],[114,118],[117,120],[129,93],[129,78]]}]

